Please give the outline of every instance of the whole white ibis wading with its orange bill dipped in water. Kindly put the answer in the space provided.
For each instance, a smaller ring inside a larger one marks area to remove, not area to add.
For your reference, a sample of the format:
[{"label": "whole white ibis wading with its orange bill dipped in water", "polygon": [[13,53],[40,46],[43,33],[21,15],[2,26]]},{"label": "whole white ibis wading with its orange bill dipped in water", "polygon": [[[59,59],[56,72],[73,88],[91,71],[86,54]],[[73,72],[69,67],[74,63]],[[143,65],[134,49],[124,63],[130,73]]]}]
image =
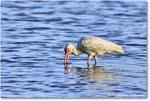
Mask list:
[{"label": "whole white ibis wading with its orange bill dipped in water", "polygon": [[95,36],[82,37],[78,42],[77,49],[73,44],[69,43],[66,45],[64,50],[65,64],[68,63],[70,53],[75,56],[86,53],[88,55],[88,64],[90,63],[90,59],[92,57],[94,58],[96,64],[98,55],[104,55],[107,53],[124,53],[124,50],[120,45]]}]

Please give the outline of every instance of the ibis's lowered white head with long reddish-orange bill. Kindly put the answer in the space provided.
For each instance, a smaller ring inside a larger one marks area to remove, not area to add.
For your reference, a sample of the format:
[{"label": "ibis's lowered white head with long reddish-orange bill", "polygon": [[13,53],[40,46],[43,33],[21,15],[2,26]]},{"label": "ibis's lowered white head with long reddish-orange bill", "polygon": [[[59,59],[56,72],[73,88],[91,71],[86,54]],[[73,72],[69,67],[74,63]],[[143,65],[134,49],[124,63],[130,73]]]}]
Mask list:
[{"label": "ibis's lowered white head with long reddish-orange bill", "polygon": [[65,64],[68,63],[69,55],[73,52],[74,46],[73,44],[69,43],[66,45],[64,51],[65,51],[65,58],[64,62]]}]

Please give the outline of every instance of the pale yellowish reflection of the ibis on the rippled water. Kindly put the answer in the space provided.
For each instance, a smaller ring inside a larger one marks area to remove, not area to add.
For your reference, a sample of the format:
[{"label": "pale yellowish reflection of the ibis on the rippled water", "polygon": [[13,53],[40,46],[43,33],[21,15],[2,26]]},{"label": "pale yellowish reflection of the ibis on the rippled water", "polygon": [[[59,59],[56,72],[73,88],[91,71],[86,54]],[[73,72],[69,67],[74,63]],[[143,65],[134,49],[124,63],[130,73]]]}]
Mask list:
[{"label": "pale yellowish reflection of the ibis on the rippled water", "polygon": [[68,64],[64,67],[66,74],[76,74],[78,77],[103,84],[106,81],[119,81],[121,70],[106,69],[102,66],[71,67]]}]

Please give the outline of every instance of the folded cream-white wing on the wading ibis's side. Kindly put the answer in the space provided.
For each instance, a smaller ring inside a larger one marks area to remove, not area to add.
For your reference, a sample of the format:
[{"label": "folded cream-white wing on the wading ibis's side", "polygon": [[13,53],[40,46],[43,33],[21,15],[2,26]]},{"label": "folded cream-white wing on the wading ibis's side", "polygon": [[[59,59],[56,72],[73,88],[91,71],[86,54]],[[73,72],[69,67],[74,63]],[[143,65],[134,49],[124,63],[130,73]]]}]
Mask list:
[{"label": "folded cream-white wing on the wading ibis's side", "polygon": [[82,40],[82,48],[89,54],[103,55],[105,53],[113,53],[119,47],[117,44],[97,37],[85,37]]}]

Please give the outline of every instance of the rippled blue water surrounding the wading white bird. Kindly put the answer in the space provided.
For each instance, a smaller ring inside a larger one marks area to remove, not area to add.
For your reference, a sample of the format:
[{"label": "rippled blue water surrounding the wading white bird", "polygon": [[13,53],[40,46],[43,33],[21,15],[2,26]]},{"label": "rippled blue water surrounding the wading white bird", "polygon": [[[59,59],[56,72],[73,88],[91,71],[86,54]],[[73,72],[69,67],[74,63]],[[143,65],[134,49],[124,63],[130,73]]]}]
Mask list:
[{"label": "rippled blue water surrounding the wading white bird", "polygon": [[[145,98],[146,1],[2,1],[1,97]],[[98,57],[64,47],[98,36],[125,48]]]}]

